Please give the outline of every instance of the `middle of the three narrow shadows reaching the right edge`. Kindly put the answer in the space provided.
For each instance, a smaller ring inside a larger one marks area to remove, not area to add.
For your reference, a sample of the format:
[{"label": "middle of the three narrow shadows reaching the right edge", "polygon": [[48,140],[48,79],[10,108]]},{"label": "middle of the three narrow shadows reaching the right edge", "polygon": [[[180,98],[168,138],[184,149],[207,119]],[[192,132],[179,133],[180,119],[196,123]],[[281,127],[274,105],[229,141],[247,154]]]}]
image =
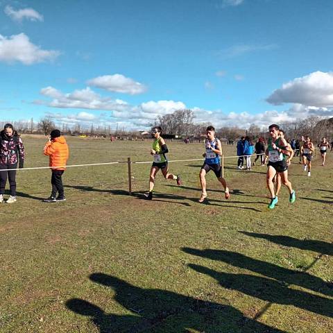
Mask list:
[{"label": "middle of the three narrow shadows reaching the right edge", "polygon": [[333,284],[326,283],[321,278],[317,278],[309,273],[293,271],[289,268],[263,262],[262,260],[253,259],[240,253],[226,250],[197,250],[195,248],[182,248],[185,253],[204,257],[219,262],[225,262],[232,266],[245,268],[248,271],[265,275],[268,278],[279,280],[285,284],[295,284],[299,287],[323,293],[326,296],[333,296]]}]

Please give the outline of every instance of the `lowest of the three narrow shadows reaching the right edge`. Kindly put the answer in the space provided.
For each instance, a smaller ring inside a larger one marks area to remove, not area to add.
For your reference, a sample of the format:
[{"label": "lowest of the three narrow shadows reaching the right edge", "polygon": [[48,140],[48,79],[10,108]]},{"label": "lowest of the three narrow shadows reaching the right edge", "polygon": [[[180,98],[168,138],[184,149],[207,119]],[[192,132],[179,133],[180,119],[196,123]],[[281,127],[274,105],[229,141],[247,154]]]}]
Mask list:
[{"label": "lowest of the three narrow shadows reaching the right edge", "polygon": [[333,300],[316,296],[312,293],[290,289],[280,281],[262,278],[248,274],[234,274],[214,271],[200,265],[189,264],[189,267],[199,273],[209,275],[221,284],[223,288],[240,291],[248,296],[259,298],[266,302],[280,305],[293,305],[314,314],[333,317]]}]

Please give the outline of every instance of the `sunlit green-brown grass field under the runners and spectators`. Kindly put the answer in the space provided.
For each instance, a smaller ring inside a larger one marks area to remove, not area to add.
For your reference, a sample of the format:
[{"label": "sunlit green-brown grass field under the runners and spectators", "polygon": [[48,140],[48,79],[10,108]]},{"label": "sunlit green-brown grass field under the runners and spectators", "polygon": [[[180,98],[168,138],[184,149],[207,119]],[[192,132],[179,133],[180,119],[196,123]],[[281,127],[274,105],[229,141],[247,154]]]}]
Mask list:
[{"label": "sunlit green-brown grass field under the runners and spectators", "polygon": [[[68,137],[69,164],[151,160],[151,142]],[[25,167],[43,167],[44,139],[24,137]],[[168,143],[169,159],[200,158],[200,144]],[[234,155],[235,146],[223,147]],[[67,202],[42,203],[49,170],[17,173],[17,203],[1,204],[0,332],[333,332],[333,154],[311,177],[290,167],[269,211],[266,167],[225,160],[232,196],[202,161],[171,162],[183,186],[150,164],[69,168]]]}]

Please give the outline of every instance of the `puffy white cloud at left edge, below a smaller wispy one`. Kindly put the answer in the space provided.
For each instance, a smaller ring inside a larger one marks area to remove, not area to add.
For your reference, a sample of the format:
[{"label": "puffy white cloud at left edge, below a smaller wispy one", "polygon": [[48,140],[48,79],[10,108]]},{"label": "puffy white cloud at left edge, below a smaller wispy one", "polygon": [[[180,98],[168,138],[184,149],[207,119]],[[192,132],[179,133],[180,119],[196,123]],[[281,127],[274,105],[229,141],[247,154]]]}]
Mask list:
[{"label": "puffy white cloud at left edge, below a smaller wispy one", "polygon": [[58,51],[42,50],[40,46],[32,44],[24,33],[10,37],[0,35],[0,61],[33,65],[37,62],[54,60],[59,55]]}]

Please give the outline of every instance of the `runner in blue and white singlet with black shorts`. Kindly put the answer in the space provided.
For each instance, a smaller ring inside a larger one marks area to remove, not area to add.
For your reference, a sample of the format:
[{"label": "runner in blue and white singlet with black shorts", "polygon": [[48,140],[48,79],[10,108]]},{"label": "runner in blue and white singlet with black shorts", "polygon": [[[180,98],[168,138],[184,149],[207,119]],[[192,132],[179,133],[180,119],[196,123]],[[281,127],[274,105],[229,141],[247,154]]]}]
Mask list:
[{"label": "runner in blue and white singlet with black shorts", "polygon": [[205,149],[206,152],[203,153],[203,157],[205,157],[205,162],[203,162],[203,167],[200,170],[200,185],[202,189],[202,193],[199,199],[199,203],[202,203],[205,198],[207,198],[206,191],[206,173],[212,170],[215,173],[216,178],[221,182],[225,191],[225,198],[230,198],[229,189],[227,186],[227,182],[222,177],[222,167],[220,164],[220,155],[222,155],[222,146],[219,139],[215,137],[215,128],[213,126],[208,126],[206,129],[207,139],[205,140]]}]

